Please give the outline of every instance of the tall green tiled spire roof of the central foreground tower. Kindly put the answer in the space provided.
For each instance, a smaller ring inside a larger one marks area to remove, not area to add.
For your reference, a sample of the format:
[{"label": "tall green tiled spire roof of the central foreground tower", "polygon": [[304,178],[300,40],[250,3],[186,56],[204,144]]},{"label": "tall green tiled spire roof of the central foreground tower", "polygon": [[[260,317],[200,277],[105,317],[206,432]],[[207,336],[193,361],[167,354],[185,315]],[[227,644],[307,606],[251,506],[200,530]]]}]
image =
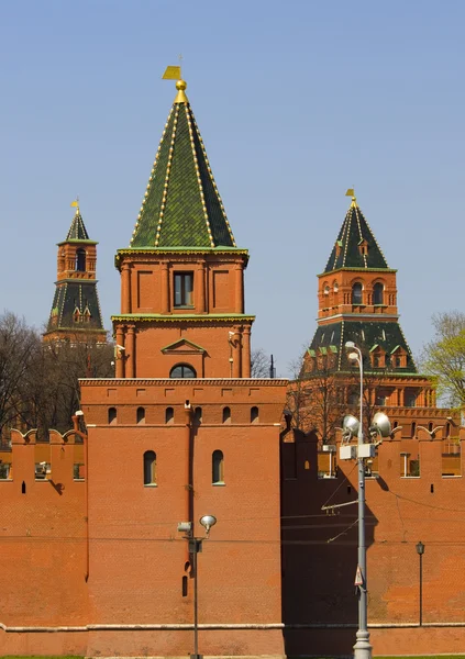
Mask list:
[{"label": "tall green tiled spire roof of the central foreground tower", "polygon": [[131,238],[151,246],[235,247],[187,98],[169,113]]}]

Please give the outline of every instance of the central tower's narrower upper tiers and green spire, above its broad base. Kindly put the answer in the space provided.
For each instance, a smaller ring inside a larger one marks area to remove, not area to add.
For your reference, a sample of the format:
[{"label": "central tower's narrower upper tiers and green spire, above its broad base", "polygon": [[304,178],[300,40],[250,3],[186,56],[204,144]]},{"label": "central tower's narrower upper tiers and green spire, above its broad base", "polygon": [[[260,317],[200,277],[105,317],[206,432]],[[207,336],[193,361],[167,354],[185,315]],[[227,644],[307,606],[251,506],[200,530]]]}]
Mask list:
[{"label": "central tower's narrower upper tiers and green spire, above its broad base", "polygon": [[246,378],[246,249],[239,248],[200,131],[176,83],[130,246],[118,250],[117,377]]}]

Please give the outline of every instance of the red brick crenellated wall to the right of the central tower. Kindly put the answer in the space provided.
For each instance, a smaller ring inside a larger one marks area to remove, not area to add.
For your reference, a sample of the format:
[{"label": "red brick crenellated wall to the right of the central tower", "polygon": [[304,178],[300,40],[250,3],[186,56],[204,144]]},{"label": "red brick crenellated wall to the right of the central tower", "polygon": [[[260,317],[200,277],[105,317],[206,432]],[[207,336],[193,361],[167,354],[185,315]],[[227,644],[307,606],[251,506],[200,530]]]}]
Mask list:
[{"label": "red brick crenellated wall to the right of the central tower", "polygon": [[[449,439],[385,440],[377,471],[366,479],[375,655],[465,647],[465,483],[460,456],[460,476],[444,476],[451,471],[446,446]],[[406,453],[419,455],[419,477],[401,476]],[[356,501],[356,462],[340,460],[335,478],[321,478],[317,437],[299,433],[285,437],[281,457],[286,652],[350,655],[357,628],[357,505],[321,509]],[[421,628],[419,540],[425,547]]]}]

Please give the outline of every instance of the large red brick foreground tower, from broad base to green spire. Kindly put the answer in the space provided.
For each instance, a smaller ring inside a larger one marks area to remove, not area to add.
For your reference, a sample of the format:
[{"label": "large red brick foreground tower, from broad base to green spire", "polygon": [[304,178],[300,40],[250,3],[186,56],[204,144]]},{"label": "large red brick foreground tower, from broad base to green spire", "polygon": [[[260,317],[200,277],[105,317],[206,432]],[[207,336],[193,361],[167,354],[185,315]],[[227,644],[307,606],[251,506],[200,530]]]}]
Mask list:
[{"label": "large red brick foreground tower, from broad base to green spire", "polygon": [[[117,379],[82,380],[89,439],[87,655],[283,656],[279,422],[285,380],[250,379],[247,252],[235,246],[186,82],[131,245],[117,254]],[[184,523],[184,533],[178,524]],[[187,533],[186,533],[186,529]],[[259,555],[259,560],[256,559]]]}]

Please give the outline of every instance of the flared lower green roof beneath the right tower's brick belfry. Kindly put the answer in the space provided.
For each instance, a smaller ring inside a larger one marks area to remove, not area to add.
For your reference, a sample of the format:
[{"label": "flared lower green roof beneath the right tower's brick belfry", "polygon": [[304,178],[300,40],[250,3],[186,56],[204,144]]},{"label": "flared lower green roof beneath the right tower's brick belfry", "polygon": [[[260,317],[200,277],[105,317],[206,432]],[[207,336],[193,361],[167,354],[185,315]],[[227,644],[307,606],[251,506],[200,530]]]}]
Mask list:
[{"label": "flared lower green roof beneath the right tower's brick belfry", "polygon": [[[369,351],[376,346],[386,353],[386,368],[392,373],[417,373],[417,367],[410,347],[403,336],[399,323],[379,323],[368,321],[342,321],[329,325],[320,325],[314,333],[309,350],[313,354],[331,349],[331,346],[337,348],[337,359],[334,362],[334,370],[347,370],[347,359],[345,344],[353,340],[364,355],[364,366],[369,371],[376,371],[369,364]],[[396,348],[402,348],[407,353],[407,366],[394,367],[391,355]],[[332,351],[334,351],[332,349]],[[379,371],[385,371],[379,368]]]}]

